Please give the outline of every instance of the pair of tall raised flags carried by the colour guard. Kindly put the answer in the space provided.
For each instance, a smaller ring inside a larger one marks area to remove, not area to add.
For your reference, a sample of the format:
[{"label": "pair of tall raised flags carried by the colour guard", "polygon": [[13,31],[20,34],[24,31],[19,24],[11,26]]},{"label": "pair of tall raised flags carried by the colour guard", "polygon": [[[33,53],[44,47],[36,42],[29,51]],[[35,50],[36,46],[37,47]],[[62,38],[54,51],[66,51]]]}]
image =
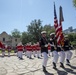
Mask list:
[{"label": "pair of tall raised flags carried by the colour guard", "polygon": [[63,19],[63,15],[62,15],[62,8],[60,7],[60,20],[59,20],[59,25],[58,25],[56,7],[55,7],[55,3],[54,3],[54,27],[55,27],[55,35],[56,35],[58,45],[64,44],[64,37],[63,37],[63,33],[62,33],[62,21],[63,20],[64,19]]}]

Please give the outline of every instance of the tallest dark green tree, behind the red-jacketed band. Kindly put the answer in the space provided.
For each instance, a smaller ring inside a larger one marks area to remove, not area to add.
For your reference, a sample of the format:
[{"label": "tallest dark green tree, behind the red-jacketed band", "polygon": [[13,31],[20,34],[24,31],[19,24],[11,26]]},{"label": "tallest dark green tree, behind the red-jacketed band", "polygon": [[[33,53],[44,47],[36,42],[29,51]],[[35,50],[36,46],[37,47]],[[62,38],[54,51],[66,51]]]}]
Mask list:
[{"label": "tallest dark green tree, behind the red-jacketed band", "polygon": [[28,34],[31,36],[30,39],[32,42],[37,42],[39,41],[41,31],[42,31],[42,21],[39,20],[34,20],[28,25],[27,31]]}]

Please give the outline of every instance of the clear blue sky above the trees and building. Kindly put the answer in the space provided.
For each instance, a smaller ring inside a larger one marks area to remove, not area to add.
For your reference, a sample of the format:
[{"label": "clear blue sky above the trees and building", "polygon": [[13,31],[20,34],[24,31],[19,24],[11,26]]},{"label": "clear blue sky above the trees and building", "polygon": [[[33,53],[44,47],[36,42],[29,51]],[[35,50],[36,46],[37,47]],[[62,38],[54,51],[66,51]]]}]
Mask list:
[{"label": "clear blue sky above the trees and building", "polygon": [[57,16],[59,6],[63,7],[63,30],[70,26],[76,28],[76,9],[72,0],[0,0],[0,33],[11,34],[13,29],[27,31],[27,26],[34,19],[41,19],[42,24],[54,24],[55,1]]}]

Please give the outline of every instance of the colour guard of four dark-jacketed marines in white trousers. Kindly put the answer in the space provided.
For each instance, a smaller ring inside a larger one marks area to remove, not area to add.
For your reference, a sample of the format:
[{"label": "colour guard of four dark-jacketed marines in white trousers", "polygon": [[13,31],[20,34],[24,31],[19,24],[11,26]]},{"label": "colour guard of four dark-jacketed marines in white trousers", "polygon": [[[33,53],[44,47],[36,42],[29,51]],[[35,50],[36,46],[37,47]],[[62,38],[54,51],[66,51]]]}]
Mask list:
[{"label": "colour guard of four dark-jacketed marines in white trousers", "polygon": [[[46,70],[46,65],[48,61],[48,54],[50,52],[52,53],[52,64],[53,64],[53,69],[56,68],[56,63],[58,62],[58,58],[60,57],[60,67],[64,67],[64,61],[66,60],[66,65],[70,64],[70,59],[72,57],[72,46],[70,44],[70,41],[68,39],[68,36],[65,36],[64,39],[64,45],[57,44],[57,39],[55,37],[55,33],[50,34],[50,39],[46,38],[46,31],[41,32],[41,39],[40,39],[40,47],[41,47],[41,53],[43,55],[43,72],[47,72]],[[50,47],[49,47],[50,46]],[[50,51],[49,51],[50,50]]]}]

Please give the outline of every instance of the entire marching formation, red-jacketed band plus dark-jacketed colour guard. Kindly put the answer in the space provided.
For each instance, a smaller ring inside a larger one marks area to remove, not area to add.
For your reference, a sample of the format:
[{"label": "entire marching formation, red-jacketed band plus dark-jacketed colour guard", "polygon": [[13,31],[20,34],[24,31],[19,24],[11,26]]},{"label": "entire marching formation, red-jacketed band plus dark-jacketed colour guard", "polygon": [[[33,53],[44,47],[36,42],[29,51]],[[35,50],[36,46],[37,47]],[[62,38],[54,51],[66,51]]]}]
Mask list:
[{"label": "entire marching formation, red-jacketed band plus dark-jacketed colour guard", "polygon": [[[46,31],[41,32],[41,39],[34,43],[27,43],[26,45],[22,45],[22,43],[18,43],[17,49],[17,57],[20,60],[23,60],[23,52],[27,58],[32,59],[33,57],[37,57],[38,59],[43,58],[42,67],[43,72],[47,72],[46,66],[48,62],[48,56],[52,56],[52,64],[53,69],[56,69],[56,63],[58,62],[58,58],[60,57],[60,67],[65,68],[64,61],[66,60],[66,65],[70,64],[70,59],[72,57],[72,47],[68,36],[65,36],[64,45],[57,45],[55,33],[51,33],[49,40],[46,38]],[[8,52],[8,57],[10,57],[11,47],[5,46],[0,42],[0,50],[2,50],[2,57],[5,56],[5,50]]]}]

